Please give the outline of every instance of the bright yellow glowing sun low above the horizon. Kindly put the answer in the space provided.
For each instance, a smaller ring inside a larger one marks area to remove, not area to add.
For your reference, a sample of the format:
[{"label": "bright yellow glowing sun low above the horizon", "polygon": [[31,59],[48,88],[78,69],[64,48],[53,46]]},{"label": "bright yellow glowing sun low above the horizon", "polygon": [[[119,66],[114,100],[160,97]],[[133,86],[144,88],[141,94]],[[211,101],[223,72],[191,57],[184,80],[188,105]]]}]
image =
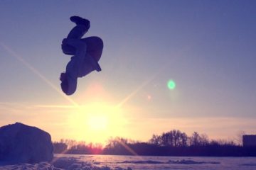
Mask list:
[{"label": "bright yellow glowing sun low above the horizon", "polygon": [[75,108],[68,124],[73,139],[105,144],[110,137],[122,136],[127,120],[121,108],[107,103],[89,103]]}]

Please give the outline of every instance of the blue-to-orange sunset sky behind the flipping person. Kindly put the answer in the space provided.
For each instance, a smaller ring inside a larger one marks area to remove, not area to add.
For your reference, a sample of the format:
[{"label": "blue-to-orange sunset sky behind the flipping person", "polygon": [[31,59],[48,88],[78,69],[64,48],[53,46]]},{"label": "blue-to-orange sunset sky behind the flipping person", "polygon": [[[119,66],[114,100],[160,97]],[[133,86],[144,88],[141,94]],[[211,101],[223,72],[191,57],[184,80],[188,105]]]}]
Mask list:
[{"label": "blue-to-orange sunset sky behind the flipping person", "polygon": [[[0,126],[146,141],[178,129],[256,133],[256,1],[0,1]],[[100,65],[60,91],[60,43],[77,15],[105,43]],[[170,90],[172,79],[176,88]]]}]

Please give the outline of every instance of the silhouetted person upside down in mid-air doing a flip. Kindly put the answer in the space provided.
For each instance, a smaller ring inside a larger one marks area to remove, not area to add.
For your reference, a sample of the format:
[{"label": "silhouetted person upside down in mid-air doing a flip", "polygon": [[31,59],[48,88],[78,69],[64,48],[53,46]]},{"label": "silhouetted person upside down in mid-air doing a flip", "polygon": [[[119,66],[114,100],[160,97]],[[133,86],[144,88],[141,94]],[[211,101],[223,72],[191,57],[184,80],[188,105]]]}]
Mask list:
[{"label": "silhouetted person upside down in mid-air doing a flip", "polygon": [[70,21],[76,26],[70,30],[61,45],[65,55],[74,55],[68,62],[65,72],[60,74],[60,86],[66,95],[75,93],[78,77],[84,77],[94,70],[101,71],[98,61],[103,50],[100,38],[82,38],[90,28],[90,21],[79,16],[71,16]]}]

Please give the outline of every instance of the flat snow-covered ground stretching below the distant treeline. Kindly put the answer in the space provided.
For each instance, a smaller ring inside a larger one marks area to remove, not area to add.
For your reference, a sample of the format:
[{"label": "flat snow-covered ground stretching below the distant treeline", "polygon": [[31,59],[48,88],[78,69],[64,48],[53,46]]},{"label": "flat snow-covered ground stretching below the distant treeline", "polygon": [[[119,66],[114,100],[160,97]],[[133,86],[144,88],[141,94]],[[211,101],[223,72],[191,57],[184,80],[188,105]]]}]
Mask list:
[{"label": "flat snow-covered ground stretching below the distant treeline", "polygon": [[140,157],[55,154],[53,162],[0,166],[17,170],[255,170],[256,157]]}]

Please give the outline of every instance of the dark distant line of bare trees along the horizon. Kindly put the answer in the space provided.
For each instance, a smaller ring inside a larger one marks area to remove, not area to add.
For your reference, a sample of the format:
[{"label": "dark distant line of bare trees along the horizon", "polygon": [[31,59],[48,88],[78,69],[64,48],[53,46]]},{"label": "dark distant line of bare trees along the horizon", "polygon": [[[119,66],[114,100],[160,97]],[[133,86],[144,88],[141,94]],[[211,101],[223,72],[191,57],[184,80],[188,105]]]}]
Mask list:
[{"label": "dark distant line of bare trees along the horizon", "polygon": [[207,135],[198,132],[188,137],[180,130],[152,135],[148,142],[115,137],[110,138],[105,147],[75,140],[60,140],[53,142],[53,146],[55,153],[65,154],[256,157],[256,147],[242,147],[233,141],[209,140]]}]

